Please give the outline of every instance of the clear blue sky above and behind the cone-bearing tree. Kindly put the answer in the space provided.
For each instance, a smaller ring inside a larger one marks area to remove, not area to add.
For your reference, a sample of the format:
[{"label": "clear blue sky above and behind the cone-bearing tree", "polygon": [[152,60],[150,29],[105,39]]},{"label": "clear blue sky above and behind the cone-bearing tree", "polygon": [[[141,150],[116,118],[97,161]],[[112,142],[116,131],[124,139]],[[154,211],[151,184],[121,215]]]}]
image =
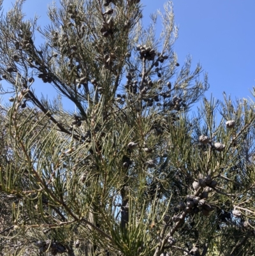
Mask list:
[{"label": "clear blue sky above and behind the cone-bearing tree", "polygon": [[[24,12],[27,18],[35,13],[40,16],[41,26],[46,25],[49,0],[27,0]],[[4,1],[4,10],[9,10],[13,1]],[[149,15],[163,10],[164,0],[143,0],[146,26]],[[255,86],[255,1],[254,0],[173,0],[175,24],[179,26],[179,38],[174,50],[179,63],[184,63],[187,54],[193,64],[200,63],[208,73],[212,93],[222,100],[222,92],[232,98],[253,97],[249,90]],[[161,24],[158,24],[161,29]],[[43,84],[49,93],[50,85]],[[255,101],[255,99],[254,99]]]}]

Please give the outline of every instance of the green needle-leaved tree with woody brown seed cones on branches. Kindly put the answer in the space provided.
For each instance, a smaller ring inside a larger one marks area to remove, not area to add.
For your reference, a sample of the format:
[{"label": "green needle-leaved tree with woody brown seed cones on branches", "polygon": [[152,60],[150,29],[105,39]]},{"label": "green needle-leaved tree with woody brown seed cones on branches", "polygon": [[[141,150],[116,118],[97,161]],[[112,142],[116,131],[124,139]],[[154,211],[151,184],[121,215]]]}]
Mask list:
[{"label": "green needle-leaved tree with woody brown seed cones on branches", "polygon": [[171,3],[147,29],[139,0],[62,0],[45,29],[22,3],[0,22],[2,255],[253,255],[254,103],[203,97]]}]

